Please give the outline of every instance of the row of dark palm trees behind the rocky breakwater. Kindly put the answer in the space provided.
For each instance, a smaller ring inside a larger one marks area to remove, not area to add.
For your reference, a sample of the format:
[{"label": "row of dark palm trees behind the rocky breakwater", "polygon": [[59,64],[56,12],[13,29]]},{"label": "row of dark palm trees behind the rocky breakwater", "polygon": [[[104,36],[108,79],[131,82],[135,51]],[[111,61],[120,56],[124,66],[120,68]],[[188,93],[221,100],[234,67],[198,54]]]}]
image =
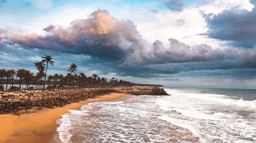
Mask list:
[{"label": "row of dark palm trees behind the rocky breakwater", "polygon": [[[75,73],[78,66],[74,63],[68,68],[66,75],[54,74],[47,75],[49,65],[54,66],[54,61],[51,55],[45,55],[41,61],[34,63],[37,73],[30,72],[26,69],[0,69],[0,90],[10,89],[49,89],[49,88],[86,88],[86,87],[105,87],[105,86],[132,86],[135,83],[118,80],[114,77],[110,80],[99,77],[97,74],[87,76],[84,73]],[[18,86],[14,86],[18,84]],[[4,89],[4,85],[5,89]],[[32,85],[32,87],[31,87]],[[146,84],[143,84],[146,85]]]}]

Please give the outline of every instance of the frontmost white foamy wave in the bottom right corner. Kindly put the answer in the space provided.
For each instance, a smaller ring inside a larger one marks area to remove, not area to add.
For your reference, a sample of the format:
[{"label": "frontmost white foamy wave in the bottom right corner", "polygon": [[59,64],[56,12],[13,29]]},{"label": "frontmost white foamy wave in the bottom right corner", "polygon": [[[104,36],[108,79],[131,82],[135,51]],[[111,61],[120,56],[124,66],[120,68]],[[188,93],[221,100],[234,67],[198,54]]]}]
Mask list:
[{"label": "frontmost white foamy wave in the bottom right corner", "polygon": [[190,130],[199,137],[200,142],[254,142],[256,140],[254,123],[242,119],[204,122],[186,120],[177,115],[162,115],[158,119]]}]

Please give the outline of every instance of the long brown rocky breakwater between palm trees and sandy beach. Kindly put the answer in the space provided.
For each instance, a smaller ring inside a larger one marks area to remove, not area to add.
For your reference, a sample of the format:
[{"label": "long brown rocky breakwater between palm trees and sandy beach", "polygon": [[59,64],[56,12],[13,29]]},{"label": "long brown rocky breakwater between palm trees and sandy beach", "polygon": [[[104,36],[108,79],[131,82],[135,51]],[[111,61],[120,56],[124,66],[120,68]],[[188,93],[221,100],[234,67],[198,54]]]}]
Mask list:
[{"label": "long brown rocky breakwater between palm trees and sandy beach", "polygon": [[66,90],[37,90],[0,92],[0,113],[26,113],[42,107],[56,107],[72,102],[84,101],[110,93],[125,93],[133,95],[168,95],[162,88],[132,87],[132,88],[86,88]]}]

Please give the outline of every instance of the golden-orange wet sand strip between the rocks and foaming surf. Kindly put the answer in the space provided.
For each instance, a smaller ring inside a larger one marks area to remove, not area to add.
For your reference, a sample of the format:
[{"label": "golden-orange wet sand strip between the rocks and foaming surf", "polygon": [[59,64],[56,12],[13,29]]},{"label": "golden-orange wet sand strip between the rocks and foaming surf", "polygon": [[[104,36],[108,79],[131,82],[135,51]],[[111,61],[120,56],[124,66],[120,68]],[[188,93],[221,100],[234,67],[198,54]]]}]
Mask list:
[{"label": "golden-orange wet sand strip between the rocks and foaming surf", "polygon": [[0,142],[60,142],[55,124],[61,115],[69,113],[68,109],[80,109],[89,102],[115,101],[126,94],[110,94],[83,102],[71,103],[54,109],[42,109],[23,115],[0,115]]}]

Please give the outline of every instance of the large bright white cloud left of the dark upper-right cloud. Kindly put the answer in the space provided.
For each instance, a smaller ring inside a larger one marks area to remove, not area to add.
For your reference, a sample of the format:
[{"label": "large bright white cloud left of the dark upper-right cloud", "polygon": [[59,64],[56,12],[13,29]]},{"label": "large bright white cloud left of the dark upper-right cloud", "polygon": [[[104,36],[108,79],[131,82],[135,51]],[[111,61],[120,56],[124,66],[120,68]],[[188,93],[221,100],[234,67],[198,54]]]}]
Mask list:
[{"label": "large bright white cloud left of the dark upper-right cloud", "polygon": [[[201,12],[217,14],[233,7],[251,10],[253,5],[249,0],[217,0],[202,6],[187,7],[180,13],[165,11],[152,14],[142,11],[139,13],[131,12],[126,17],[137,25],[140,34],[150,43],[160,40],[165,46],[168,46],[167,39],[172,37],[192,46],[207,43],[217,48],[223,47],[225,42],[200,35],[208,30],[207,23]],[[184,24],[181,26],[177,26],[177,20],[179,19],[184,19]]]}]

